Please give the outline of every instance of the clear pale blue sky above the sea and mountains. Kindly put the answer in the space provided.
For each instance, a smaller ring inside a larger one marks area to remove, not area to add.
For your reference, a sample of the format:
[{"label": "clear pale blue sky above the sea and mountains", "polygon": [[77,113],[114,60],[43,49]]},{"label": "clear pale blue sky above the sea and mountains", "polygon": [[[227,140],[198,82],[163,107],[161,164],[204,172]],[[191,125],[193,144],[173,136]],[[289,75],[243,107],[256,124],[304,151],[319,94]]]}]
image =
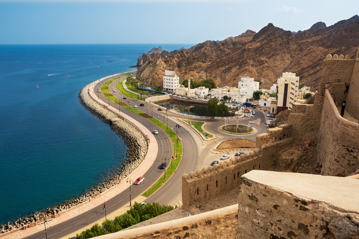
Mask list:
[{"label": "clear pale blue sky above the sea and mountains", "polygon": [[358,9],[358,0],[0,0],[0,44],[197,44],[268,23],[330,26]]}]

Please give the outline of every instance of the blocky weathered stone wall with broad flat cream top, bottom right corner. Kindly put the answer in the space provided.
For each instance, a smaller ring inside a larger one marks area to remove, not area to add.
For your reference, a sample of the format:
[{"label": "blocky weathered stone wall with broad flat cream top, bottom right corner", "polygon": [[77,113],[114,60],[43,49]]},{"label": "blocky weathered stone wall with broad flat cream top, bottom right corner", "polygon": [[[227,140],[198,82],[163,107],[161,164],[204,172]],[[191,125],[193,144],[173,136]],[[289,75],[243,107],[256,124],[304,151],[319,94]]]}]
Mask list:
[{"label": "blocky weathered stone wall with broad flat cream top, bottom right corner", "polygon": [[253,170],[242,176],[237,238],[358,238],[359,180]]}]

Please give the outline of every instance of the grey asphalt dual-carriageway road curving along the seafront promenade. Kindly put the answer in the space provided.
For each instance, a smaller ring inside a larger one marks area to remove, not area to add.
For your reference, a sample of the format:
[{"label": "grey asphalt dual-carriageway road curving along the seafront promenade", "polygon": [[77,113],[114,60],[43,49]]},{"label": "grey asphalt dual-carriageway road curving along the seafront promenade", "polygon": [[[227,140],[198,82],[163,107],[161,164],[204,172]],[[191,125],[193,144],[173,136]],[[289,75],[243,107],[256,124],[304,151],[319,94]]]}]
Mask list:
[{"label": "grey asphalt dual-carriageway road curving along the seafront promenade", "polygon": [[[109,77],[105,78],[103,81],[106,81]],[[101,88],[102,82],[97,83],[94,86],[94,89]],[[115,89],[115,86],[112,86],[113,89]],[[111,88],[112,89],[112,88]],[[116,94],[117,99],[121,97],[121,92],[113,92],[118,93]],[[98,95],[99,98],[101,98],[102,101],[108,102],[108,99],[102,95]],[[137,100],[131,99],[131,105],[139,105],[141,102]],[[127,101],[126,101],[127,102]],[[117,108],[118,105],[114,102],[110,101],[111,106]],[[145,113],[147,110],[147,107],[142,107],[140,110],[143,110]],[[152,111],[152,110],[151,110]],[[149,168],[149,170],[143,175],[145,177],[145,182],[141,183],[140,185],[133,185],[131,188],[131,197],[132,199],[135,199],[137,196],[140,196],[143,194],[150,186],[156,182],[160,176],[163,174],[163,170],[159,169],[160,162],[162,162],[161,157],[163,155],[167,155],[171,157],[171,155],[175,155],[176,152],[173,152],[172,142],[171,138],[168,137],[168,135],[160,129],[157,125],[153,124],[149,120],[143,118],[140,115],[137,115],[130,110],[126,109],[126,107],[121,107],[121,112],[125,113],[135,120],[139,121],[141,124],[143,124],[146,128],[150,129],[152,132],[154,129],[158,130],[159,134],[156,135],[156,140],[158,143],[158,155],[153,163],[153,165]],[[163,115],[163,111],[157,111],[153,110],[153,113],[155,115]],[[167,123],[167,122],[166,122]],[[172,120],[171,118],[168,119],[168,126],[170,125],[176,125],[177,122]],[[174,127],[173,127],[174,128]],[[191,171],[195,170],[197,159],[198,159],[198,150],[196,148],[196,142],[192,138],[191,134],[188,133],[183,127],[181,129],[178,129],[178,134],[182,138],[182,148],[183,148],[183,155],[180,165],[178,166],[177,170],[174,172],[174,174],[167,180],[167,182],[159,188],[155,193],[153,193],[147,202],[158,202],[160,205],[168,204],[169,201],[171,201],[178,193],[182,190],[182,175],[183,173],[189,173]],[[176,146],[175,146],[176,147]],[[167,167],[171,167],[170,164],[167,164]],[[122,191],[112,199],[106,201],[106,211],[108,214],[111,214],[113,211],[117,211],[118,209],[122,207],[129,206],[130,202],[130,189],[127,188],[126,190]],[[94,207],[93,209],[84,212],[83,214],[80,214],[70,220],[67,220],[61,224],[54,225],[51,228],[47,228],[47,238],[66,238],[67,235],[73,234],[76,231],[79,231],[89,225],[92,225],[96,223],[97,221],[104,219],[104,211],[103,211],[103,205],[99,205],[97,207]],[[45,231],[40,231],[39,233],[33,234],[31,236],[28,236],[27,238],[31,239],[40,239],[40,238],[46,238]]]}]

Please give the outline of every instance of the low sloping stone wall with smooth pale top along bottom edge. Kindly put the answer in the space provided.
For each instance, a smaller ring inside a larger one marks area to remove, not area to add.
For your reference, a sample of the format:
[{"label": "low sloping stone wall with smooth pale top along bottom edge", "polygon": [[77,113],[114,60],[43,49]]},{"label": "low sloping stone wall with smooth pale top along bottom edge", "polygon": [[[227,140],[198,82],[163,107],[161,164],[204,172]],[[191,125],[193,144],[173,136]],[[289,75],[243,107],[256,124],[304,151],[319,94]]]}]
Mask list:
[{"label": "low sloping stone wall with smooth pale top along bottom edge", "polygon": [[98,236],[117,238],[236,238],[238,204],[155,225]]}]

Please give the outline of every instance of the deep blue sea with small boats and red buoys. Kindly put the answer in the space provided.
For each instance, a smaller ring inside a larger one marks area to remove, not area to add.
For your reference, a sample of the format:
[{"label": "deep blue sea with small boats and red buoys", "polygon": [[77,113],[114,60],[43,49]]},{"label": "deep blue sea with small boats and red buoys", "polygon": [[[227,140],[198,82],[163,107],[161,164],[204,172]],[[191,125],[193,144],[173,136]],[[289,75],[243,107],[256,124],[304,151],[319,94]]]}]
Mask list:
[{"label": "deep blue sea with small boats and red buoys", "polygon": [[134,70],[137,57],[159,46],[193,44],[0,45],[0,224],[80,196],[118,170],[123,139],[78,93]]}]

